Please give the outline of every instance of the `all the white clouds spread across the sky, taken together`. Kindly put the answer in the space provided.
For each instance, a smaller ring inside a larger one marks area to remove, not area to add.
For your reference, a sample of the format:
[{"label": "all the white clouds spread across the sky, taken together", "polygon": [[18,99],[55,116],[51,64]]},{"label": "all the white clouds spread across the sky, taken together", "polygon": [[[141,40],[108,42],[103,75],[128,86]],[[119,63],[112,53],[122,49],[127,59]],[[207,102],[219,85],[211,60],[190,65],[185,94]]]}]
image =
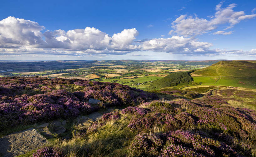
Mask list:
[{"label": "all the white clouds spread across the sky, taken together", "polygon": [[[256,17],[246,15],[244,11],[233,10],[236,4],[222,7],[220,2],[215,7],[213,16],[208,20],[195,16],[180,15],[171,23],[170,38],[154,38],[136,41],[139,31],[136,28],[124,29],[119,33],[108,35],[94,27],[64,31],[47,30],[35,21],[9,16],[0,21],[0,56],[24,54],[49,55],[123,55],[135,51],[166,52],[172,54],[203,55],[248,55],[256,56],[256,50],[225,50],[211,48],[213,43],[197,39],[198,35],[231,35],[236,24]],[[253,12],[252,12],[253,13]],[[223,30],[218,26],[227,24]],[[153,25],[148,26],[148,28]],[[161,35],[164,37],[165,35]]]}]

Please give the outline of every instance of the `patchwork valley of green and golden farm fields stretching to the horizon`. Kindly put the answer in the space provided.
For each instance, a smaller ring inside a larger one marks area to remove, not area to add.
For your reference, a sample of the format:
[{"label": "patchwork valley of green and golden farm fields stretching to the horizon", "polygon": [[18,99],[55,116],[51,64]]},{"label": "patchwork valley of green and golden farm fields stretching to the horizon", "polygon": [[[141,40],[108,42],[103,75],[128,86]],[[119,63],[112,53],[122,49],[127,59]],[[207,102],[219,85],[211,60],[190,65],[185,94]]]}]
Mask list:
[{"label": "patchwork valley of green and golden farm fields stretching to the horizon", "polygon": [[146,90],[152,81],[161,79],[168,74],[201,69],[216,62],[218,60],[197,62],[158,60],[1,62],[0,70],[2,70],[1,76],[39,76],[116,82]]}]

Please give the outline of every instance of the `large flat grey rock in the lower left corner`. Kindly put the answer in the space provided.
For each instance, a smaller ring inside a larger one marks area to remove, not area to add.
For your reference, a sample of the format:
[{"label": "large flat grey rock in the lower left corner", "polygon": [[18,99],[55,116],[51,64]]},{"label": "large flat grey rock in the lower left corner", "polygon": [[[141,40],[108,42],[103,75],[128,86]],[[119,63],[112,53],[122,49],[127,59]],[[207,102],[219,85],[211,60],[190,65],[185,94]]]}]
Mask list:
[{"label": "large flat grey rock in the lower left corner", "polygon": [[14,157],[49,144],[36,129],[30,128],[0,138],[2,157]]}]

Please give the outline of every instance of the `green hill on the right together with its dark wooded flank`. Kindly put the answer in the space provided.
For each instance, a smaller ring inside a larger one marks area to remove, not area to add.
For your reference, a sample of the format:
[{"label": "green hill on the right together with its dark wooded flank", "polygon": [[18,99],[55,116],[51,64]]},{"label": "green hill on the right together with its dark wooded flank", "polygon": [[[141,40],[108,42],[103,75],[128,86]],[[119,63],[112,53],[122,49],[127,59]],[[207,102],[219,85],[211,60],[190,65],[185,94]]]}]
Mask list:
[{"label": "green hill on the right together with its dark wooded flank", "polygon": [[[189,83],[190,76],[193,84],[187,86],[224,85],[256,88],[256,61],[219,61],[209,67],[196,70],[190,75],[188,72],[187,74],[186,72],[170,74],[160,80],[153,81],[148,90]],[[182,77],[183,75],[184,77]]]}]

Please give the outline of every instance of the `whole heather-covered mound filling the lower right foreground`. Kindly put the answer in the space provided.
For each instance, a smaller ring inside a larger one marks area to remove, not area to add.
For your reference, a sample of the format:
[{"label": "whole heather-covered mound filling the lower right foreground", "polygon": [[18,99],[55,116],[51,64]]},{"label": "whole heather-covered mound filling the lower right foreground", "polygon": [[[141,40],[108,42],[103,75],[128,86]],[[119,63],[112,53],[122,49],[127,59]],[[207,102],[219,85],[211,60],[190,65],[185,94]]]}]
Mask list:
[{"label": "whole heather-covered mound filling the lower right foreground", "polygon": [[[152,101],[140,106],[143,108],[128,107],[121,112],[128,115],[127,127],[132,132],[140,132],[130,145],[134,156],[239,157],[250,154],[255,146],[256,113],[253,110],[215,102],[197,104],[186,99]],[[140,110],[146,112],[139,114]],[[163,134],[152,134],[153,128],[162,128]],[[244,143],[236,145],[235,138]]]}]

